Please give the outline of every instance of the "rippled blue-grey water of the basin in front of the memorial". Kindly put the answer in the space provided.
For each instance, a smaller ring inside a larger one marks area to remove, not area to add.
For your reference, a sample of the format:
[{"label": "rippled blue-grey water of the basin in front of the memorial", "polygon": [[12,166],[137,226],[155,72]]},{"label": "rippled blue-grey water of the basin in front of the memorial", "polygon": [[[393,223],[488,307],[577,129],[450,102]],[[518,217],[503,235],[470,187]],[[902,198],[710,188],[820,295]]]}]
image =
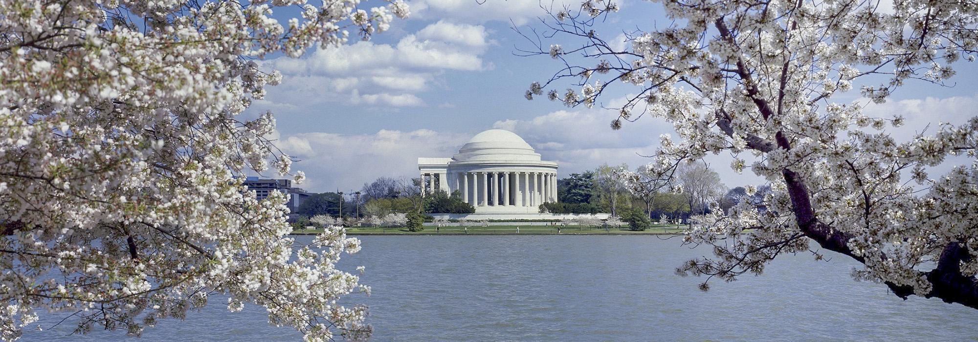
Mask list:
[{"label": "rippled blue-grey water of the basin in front of the memorial", "polygon": [[[308,240],[310,236],[298,236]],[[904,301],[850,278],[857,263],[832,253],[778,257],[760,277],[732,283],[674,270],[705,247],[651,235],[361,236],[376,341],[978,341],[978,311],[936,299]],[[43,315],[45,327],[59,321]],[[125,331],[24,341],[111,341]],[[138,341],[291,341],[263,309],[228,313],[220,298],[186,321],[161,321]]]}]

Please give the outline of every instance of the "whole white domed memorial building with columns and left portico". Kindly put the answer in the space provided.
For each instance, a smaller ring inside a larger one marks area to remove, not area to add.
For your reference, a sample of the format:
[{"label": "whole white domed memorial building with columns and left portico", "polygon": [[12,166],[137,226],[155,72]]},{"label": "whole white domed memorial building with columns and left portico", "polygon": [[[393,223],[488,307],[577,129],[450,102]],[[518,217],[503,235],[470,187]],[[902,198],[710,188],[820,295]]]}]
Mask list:
[{"label": "whole white domed memorial building with columns and left portico", "polygon": [[507,130],[476,134],[451,158],[418,158],[422,193],[462,192],[476,214],[537,213],[556,202],[556,162]]}]

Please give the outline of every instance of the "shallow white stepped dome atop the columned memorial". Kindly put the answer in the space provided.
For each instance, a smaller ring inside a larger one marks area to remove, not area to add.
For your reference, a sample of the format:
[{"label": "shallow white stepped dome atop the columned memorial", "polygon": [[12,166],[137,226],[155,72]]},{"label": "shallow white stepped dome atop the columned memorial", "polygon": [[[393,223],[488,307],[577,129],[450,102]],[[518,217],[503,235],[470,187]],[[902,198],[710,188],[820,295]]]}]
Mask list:
[{"label": "shallow white stepped dome atop the columned memorial", "polygon": [[540,160],[523,138],[505,129],[476,134],[452,159],[463,160]]}]

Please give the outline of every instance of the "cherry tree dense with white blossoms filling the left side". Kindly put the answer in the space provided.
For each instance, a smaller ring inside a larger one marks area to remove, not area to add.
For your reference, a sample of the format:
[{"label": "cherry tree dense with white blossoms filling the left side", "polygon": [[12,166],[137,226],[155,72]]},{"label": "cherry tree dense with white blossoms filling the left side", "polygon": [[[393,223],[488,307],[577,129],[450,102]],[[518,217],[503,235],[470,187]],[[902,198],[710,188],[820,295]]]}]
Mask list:
[{"label": "cherry tree dense with white blossoms filling the left side", "polygon": [[247,170],[303,179],[266,138],[272,114],[242,115],[282,78],[255,60],[408,14],[358,3],[0,0],[0,337],[38,309],[139,335],[214,294],[309,341],[369,336],[365,308],[336,304],[369,290],[334,268],[359,241],[332,227],[296,245],[286,195],[242,186]]}]

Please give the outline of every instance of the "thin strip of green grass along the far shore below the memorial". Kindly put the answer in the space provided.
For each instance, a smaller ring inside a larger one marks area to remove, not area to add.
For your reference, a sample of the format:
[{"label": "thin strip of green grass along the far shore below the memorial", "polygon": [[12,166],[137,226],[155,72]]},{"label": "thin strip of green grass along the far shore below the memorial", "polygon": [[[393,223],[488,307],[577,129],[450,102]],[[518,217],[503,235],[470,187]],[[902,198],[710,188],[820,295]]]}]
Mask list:
[{"label": "thin strip of green grass along the far shore below the memorial", "polygon": [[[557,230],[556,226],[468,226],[468,227],[424,227],[421,232],[411,232],[407,228],[387,228],[387,227],[366,227],[366,228],[347,228],[347,235],[516,235],[516,228],[519,228],[520,235],[676,235],[685,228],[676,229],[675,226],[653,227],[644,232],[630,231],[628,229],[608,229],[599,227],[580,227],[565,226]],[[294,235],[315,235],[322,233],[323,230],[295,230]]]}]

